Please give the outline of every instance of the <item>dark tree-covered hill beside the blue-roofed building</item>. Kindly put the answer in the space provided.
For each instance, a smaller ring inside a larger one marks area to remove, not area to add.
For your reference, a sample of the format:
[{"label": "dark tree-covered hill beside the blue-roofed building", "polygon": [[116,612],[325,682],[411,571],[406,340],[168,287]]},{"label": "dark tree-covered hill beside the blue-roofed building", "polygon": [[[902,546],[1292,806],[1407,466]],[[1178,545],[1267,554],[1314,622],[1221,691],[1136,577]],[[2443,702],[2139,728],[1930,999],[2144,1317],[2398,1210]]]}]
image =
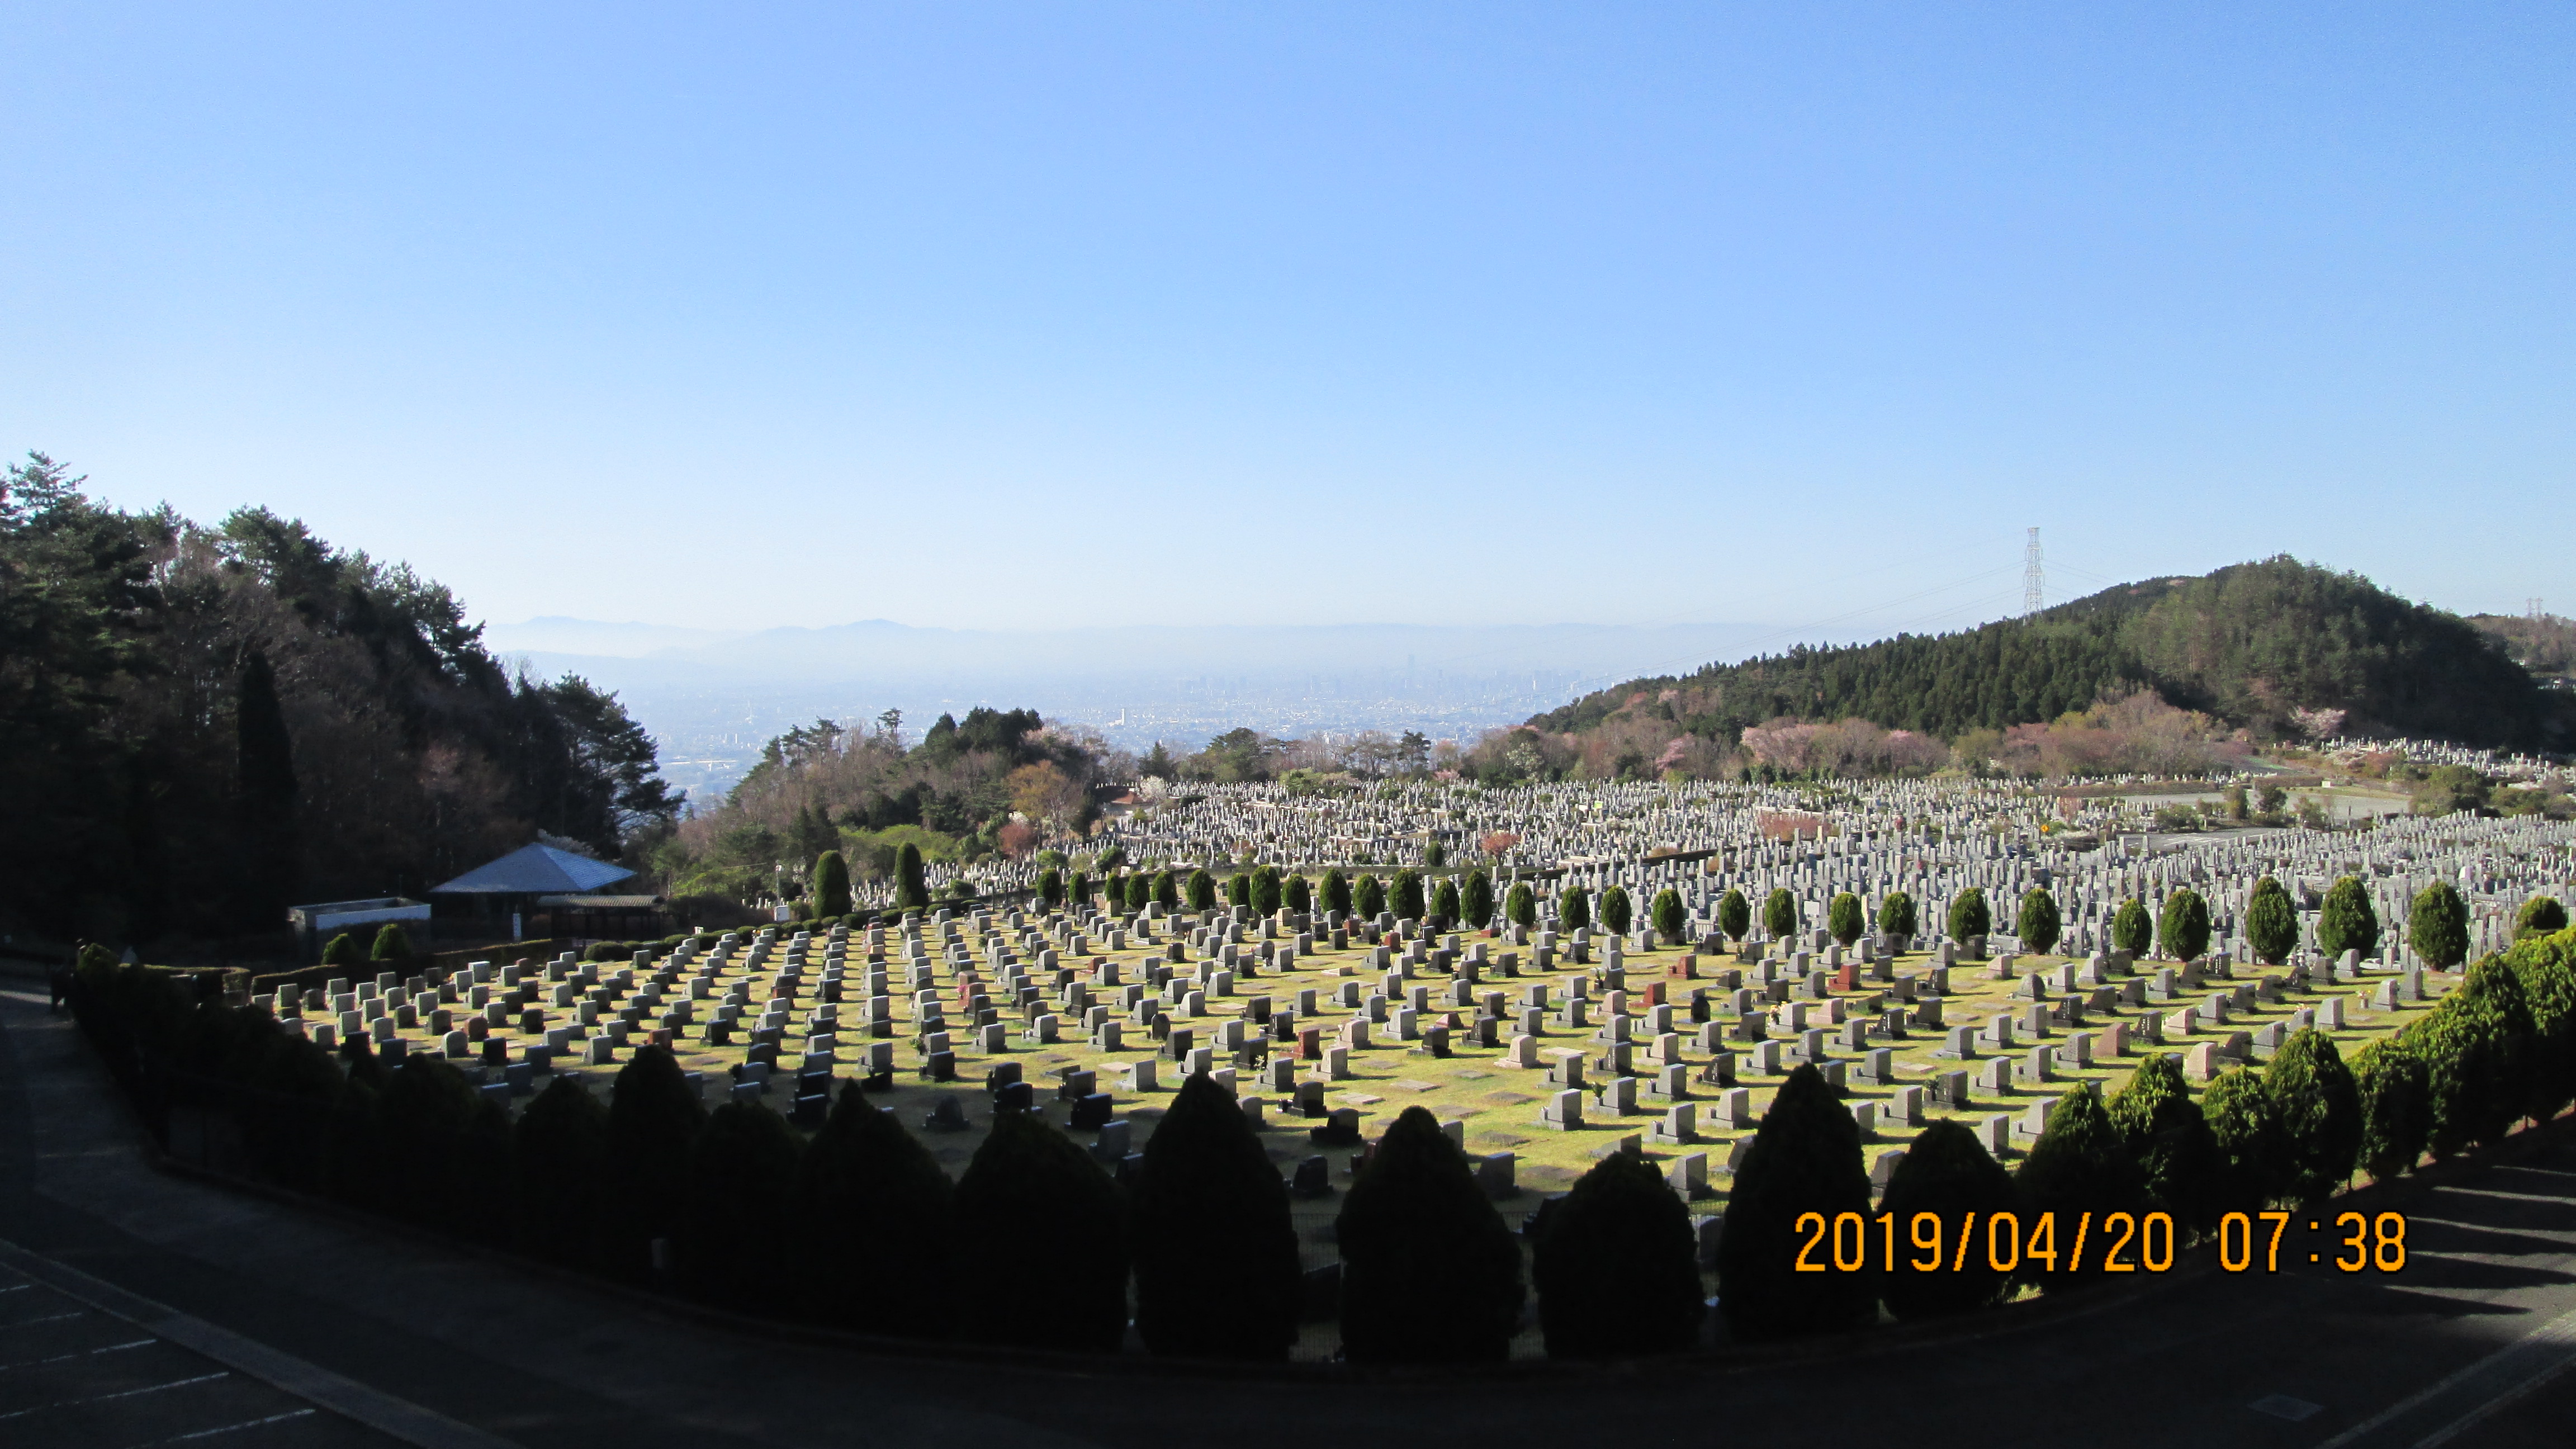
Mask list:
[{"label": "dark tree-covered hill beside the blue-roofed building", "polygon": [[265,936],[677,812],[616,696],[510,676],[446,588],[265,508],[206,529],[80,485],[0,472],[0,931]]}]

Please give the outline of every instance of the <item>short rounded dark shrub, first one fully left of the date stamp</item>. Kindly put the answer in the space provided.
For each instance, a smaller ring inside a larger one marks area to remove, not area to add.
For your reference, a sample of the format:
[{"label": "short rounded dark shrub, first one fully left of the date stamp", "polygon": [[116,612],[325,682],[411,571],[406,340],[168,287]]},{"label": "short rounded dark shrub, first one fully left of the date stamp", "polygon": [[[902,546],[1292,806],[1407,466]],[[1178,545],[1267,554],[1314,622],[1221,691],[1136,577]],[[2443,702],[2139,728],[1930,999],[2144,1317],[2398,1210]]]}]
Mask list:
[{"label": "short rounded dark shrub, first one fully left of the date stamp", "polygon": [[1602,1158],[1556,1204],[1530,1276],[1551,1359],[1680,1354],[1708,1315],[1690,1207],[1625,1152]]}]

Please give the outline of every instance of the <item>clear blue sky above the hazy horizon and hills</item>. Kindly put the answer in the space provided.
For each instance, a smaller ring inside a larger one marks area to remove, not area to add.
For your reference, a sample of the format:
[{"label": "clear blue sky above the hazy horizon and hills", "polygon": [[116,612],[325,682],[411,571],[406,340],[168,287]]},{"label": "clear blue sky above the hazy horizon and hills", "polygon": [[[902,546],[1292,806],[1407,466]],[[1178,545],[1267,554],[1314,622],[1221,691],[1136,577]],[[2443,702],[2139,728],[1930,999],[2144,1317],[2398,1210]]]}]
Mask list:
[{"label": "clear blue sky above the hazy horizon and hills", "polygon": [[[495,619],[1855,634],[2576,523],[2576,10],[0,10],[0,449]],[[2566,598],[2555,598],[2566,596]]]}]

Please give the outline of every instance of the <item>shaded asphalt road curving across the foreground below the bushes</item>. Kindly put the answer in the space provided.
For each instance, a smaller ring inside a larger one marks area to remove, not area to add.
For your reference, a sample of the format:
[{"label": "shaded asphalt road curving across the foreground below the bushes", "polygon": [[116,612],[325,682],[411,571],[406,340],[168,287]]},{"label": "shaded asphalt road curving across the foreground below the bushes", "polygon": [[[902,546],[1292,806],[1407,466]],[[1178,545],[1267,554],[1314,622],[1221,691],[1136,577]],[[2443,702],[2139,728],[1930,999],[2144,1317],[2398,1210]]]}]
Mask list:
[{"label": "shaded asphalt road curving across the foreground below the bushes", "polygon": [[[39,993],[0,990],[0,1240],[31,1253],[28,1263],[100,1284],[100,1302],[142,1294],[229,1336],[237,1359],[301,1364],[417,1410],[410,1423],[453,1423],[474,1441],[1368,1444],[1401,1434],[1492,1446],[1901,1434],[1978,1449],[2342,1449],[2566,1444],[2576,1413],[2576,1374],[2555,1374],[2576,1361],[2576,1119],[2378,1204],[2411,1214],[2411,1258],[2393,1276],[2344,1276],[2293,1250],[2280,1274],[2182,1274],[2094,1310],[2043,1305],[1963,1330],[1893,1328],[1788,1356],[1425,1382],[1329,1369],[1226,1379],[1149,1364],[889,1359],[737,1330],[435,1238],[170,1176],[149,1165],[103,1073]],[[0,1287],[23,1276],[5,1274]],[[28,1284],[0,1292],[0,1413],[31,1410],[0,1421],[13,1446],[113,1449],[224,1426],[201,1444],[435,1441],[363,1428],[335,1415],[327,1390],[299,1395],[294,1382],[183,1385],[224,1364],[191,1366],[180,1343],[149,1346],[167,1364],[152,1364],[157,1374],[82,1364],[72,1390],[21,1390],[21,1359],[93,1354],[113,1338],[93,1305],[49,1307],[59,1294]],[[88,1400],[124,1392],[126,1379],[167,1395],[234,1392],[242,1408],[232,1418],[173,1410],[155,1421],[170,1431],[100,1428],[106,1410]]]}]

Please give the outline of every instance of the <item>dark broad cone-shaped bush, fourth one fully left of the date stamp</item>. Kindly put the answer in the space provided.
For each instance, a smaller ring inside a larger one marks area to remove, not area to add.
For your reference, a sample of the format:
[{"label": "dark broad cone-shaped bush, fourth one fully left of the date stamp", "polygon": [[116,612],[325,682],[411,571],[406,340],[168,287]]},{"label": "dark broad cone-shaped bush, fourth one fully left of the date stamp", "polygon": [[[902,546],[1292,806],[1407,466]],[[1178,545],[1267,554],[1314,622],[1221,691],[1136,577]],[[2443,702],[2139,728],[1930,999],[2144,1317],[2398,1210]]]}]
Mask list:
[{"label": "dark broad cone-shaped bush, fourth one fully left of the date stamp", "polygon": [[1005,1111],[956,1189],[951,1292],[963,1338],[1115,1354],[1128,1240],[1118,1186],[1036,1111]]}]

